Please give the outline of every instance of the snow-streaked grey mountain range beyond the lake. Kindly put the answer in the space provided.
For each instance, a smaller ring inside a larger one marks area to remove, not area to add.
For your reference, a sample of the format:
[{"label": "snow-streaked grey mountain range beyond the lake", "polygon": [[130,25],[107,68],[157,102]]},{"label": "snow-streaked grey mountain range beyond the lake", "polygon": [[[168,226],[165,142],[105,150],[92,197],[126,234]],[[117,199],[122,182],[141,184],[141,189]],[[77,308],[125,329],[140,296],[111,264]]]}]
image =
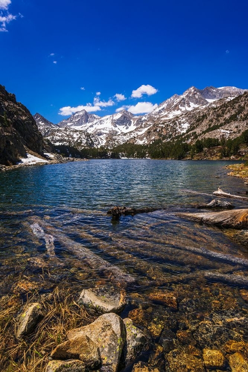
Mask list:
[{"label": "snow-streaked grey mountain range beyond the lake", "polygon": [[[152,142],[157,132],[168,134],[168,137],[184,133],[192,123],[194,112],[218,106],[223,100],[232,100],[245,91],[236,87],[210,86],[201,90],[190,87],[182,95],[175,94],[143,116],[134,116],[123,110],[117,114],[99,117],[82,110],[58,125],[46,121],[39,114],[34,118],[42,134],[54,144],[70,143],[73,146],[73,143],[78,142],[81,131],[85,132],[79,140],[81,147],[91,143],[91,146],[105,145],[111,148],[126,141],[145,144]],[[188,120],[190,112],[192,115]]]}]

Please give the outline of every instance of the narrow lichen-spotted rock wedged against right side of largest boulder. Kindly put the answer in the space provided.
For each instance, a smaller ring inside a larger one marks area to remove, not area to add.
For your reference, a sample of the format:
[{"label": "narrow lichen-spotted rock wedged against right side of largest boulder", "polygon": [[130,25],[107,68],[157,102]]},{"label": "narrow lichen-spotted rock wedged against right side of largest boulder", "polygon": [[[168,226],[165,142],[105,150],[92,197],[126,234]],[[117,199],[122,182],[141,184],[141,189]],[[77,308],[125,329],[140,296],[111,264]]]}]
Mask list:
[{"label": "narrow lichen-spotted rock wedged against right side of largest boulder", "polygon": [[124,326],[126,330],[126,342],[124,344],[124,358],[125,365],[137,358],[145,349],[147,341],[144,333],[133,325],[129,318],[124,319]]}]

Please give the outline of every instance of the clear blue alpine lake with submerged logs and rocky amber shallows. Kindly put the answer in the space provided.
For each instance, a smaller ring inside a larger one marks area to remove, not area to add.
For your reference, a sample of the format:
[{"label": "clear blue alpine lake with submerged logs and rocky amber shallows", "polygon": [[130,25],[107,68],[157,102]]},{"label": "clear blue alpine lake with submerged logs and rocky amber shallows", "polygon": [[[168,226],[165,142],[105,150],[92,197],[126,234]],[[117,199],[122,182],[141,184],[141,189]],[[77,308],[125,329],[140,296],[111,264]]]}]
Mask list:
[{"label": "clear blue alpine lake with submerged logs and rocky amber shallows", "polygon": [[[235,281],[248,280],[248,264],[230,259],[248,262],[239,238],[246,232],[178,216],[197,212],[219,186],[245,193],[242,180],[227,176],[232,163],[113,159],[0,173],[0,297],[25,283],[23,302],[56,287],[75,301],[84,288],[120,287],[127,294],[121,317],[150,338],[136,363],[184,372],[201,371],[206,348],[226,361],[235,352],[248,357],[248,288]],[[112,221],[114,206],[157,210]],[[228,362],[222,370],[231,371]]]}]

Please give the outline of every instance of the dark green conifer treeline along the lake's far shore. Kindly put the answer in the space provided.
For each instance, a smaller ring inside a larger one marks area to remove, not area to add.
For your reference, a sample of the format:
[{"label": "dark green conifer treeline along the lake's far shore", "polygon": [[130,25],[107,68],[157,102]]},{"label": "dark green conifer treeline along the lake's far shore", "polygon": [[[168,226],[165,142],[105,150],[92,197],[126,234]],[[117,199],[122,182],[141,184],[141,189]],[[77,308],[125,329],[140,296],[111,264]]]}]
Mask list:
[{"label": "dark green conifer treeline along the lake's far shore", "polygon": [[136,145],[133,143],[124,143],[109,150],[104,147],[84,148],[77,150],[70,146],[56,146],[56,150],[64,156],[93,158],[93,159],[119,159],[126,158],[146,158],[152,159],[184,159],[201,153],[204,149],[221,146],[221,157],[230,157],[239,153],[241,144],[248,146],[248,130],[235,139],[217,139],[205,138],[197,139],[194,144],[188,144],[183,138],[176,138],[170,141],[157,139],[149,145]]}]

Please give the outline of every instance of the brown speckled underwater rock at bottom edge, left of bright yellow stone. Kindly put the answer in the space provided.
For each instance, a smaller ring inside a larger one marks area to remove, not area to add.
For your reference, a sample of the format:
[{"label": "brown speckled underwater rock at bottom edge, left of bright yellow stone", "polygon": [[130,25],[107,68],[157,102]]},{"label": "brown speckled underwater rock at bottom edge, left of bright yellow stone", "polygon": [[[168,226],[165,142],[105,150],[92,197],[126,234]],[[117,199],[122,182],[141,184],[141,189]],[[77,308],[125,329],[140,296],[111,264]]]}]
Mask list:
[{"label": "brown speckled underwater rock at bottom edge, left of bright yellow stone", "polygon": [[201,353],[193,346],[170,351],[166,355],[171,372],[204,372]]}]

